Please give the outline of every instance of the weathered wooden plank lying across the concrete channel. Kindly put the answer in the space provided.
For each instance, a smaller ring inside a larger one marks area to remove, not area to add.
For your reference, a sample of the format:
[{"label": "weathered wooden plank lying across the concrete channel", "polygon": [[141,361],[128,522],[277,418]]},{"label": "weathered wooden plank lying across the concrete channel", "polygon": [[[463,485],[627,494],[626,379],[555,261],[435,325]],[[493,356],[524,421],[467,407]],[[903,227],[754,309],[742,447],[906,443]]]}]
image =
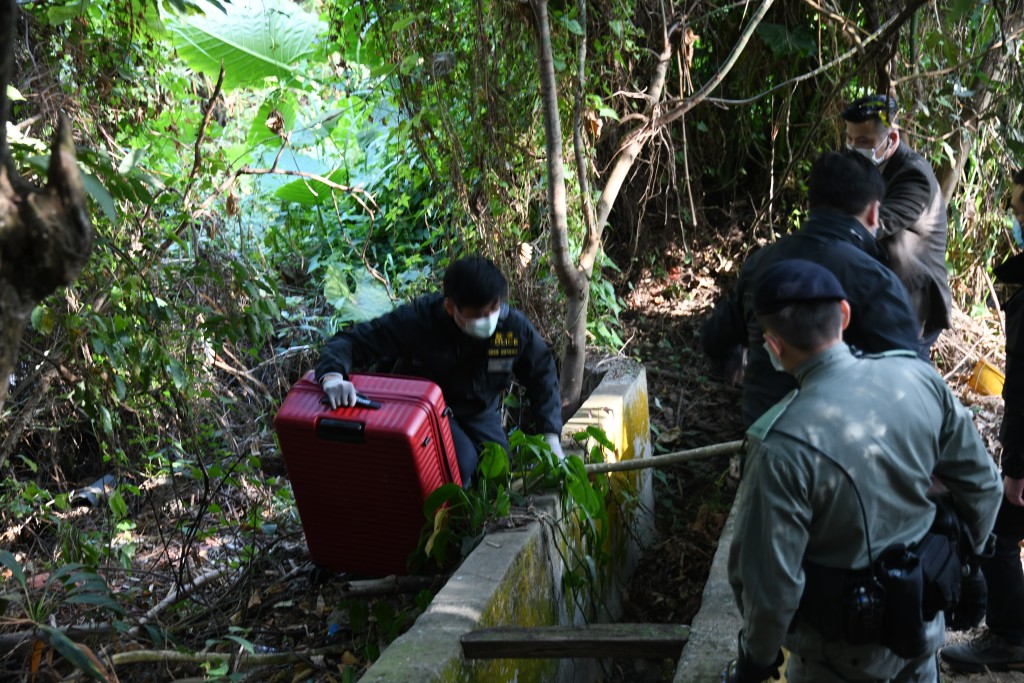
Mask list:
[{"label": "weathered wooden plank lying across the concrete channel", "polygon": [[467,633],[462,651],[467,659],[675,659],[689,637],[690,627],[678,624],[500,627]]}]

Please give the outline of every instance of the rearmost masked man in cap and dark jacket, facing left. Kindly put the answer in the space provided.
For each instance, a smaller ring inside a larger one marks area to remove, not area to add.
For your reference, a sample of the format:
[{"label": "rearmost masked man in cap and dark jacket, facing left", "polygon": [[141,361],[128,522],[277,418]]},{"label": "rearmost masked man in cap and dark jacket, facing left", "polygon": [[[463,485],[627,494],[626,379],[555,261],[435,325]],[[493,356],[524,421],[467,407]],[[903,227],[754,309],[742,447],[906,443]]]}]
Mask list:
[{"label": "rearmost masked man in cap and dark jacket, facing left", "polygon": [[890,95],[852,102],[843,110],[846,145],[882,170],[886,193],[876,238],[910,295],[921,326],[919,353],[931,359],[932,344],[951,326],[946,203],[931,164],[900,139],[897,111]]}]

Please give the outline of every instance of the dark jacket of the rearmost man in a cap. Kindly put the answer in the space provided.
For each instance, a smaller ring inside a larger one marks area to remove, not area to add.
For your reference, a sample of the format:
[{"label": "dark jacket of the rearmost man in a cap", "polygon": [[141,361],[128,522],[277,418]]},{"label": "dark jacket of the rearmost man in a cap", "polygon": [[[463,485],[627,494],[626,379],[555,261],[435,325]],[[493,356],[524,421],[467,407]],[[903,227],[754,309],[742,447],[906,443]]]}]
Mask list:
[{"label": "dark jacket of the rearmost man in a cap", "polygon": [[886,194],[878,241],[910,295],[924,335],[951,327],[946,203],[932,165],[902,141],[882,166]]}]

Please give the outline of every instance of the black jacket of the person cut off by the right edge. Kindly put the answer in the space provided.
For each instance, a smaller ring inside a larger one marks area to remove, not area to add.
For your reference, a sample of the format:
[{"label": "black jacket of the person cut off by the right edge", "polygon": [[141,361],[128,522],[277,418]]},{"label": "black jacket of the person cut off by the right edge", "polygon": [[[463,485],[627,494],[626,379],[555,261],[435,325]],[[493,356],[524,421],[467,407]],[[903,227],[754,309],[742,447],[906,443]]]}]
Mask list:
[{"label": "black jacket of the person cut off by the right edge", "polygon": [[[1005,285],[1024,286],[1024,254],[1007,259],[992,269],[995,280]],[[1024,289],[1018,289],[1002,304],[1007,321],[1007,368],[1002,383],[1002,473],[1024,478]]]}]

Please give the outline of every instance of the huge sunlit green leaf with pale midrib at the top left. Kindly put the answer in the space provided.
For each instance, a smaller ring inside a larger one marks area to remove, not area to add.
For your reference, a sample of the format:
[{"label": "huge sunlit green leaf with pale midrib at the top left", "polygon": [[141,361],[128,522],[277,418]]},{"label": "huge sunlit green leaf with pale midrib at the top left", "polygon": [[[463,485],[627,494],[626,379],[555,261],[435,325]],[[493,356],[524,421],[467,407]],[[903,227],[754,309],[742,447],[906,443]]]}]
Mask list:
[{"label": "huge sunlit green leaf with pale midrib at the top left", "polygon": [[319,49],[325,26],[287,0],[233,0],[223,11],[206,1],[205,13],[167,12],[164,25],[178,54],[213,79],[224,63],[224,88],[288,80]]}]

